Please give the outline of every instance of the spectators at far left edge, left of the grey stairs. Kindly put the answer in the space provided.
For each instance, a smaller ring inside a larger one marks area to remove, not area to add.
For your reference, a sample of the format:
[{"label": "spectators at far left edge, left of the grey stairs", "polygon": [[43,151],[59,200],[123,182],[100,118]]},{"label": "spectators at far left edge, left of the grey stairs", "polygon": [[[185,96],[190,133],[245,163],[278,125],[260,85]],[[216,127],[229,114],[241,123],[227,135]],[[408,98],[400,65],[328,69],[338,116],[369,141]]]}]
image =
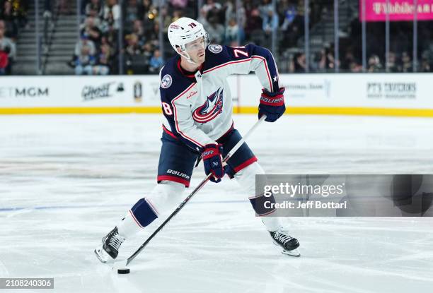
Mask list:
[{"label": "spectators at far left edge, left of the grey stairs", "polygon": [[16,40],[28,24],[27,1],[0,0],[0,76],[12,72],[16,59]]}]

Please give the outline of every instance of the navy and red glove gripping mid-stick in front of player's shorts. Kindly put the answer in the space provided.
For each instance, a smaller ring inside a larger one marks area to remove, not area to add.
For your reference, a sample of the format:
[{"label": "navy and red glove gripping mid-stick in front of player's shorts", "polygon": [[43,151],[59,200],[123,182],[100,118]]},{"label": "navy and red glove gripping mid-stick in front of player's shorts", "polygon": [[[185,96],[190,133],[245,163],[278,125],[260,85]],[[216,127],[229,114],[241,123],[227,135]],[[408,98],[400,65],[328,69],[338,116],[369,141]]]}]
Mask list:
[{"label": "navy and red glove gripping mid-stick in front of player's shorts", "polygon": [[218,183],[224,176],[224,167],[222,165],[222,145],[211,143],[209,145],[204,145],[204,150],[202,153],[204,172],[206,175],[212,173],[210,181]]}]

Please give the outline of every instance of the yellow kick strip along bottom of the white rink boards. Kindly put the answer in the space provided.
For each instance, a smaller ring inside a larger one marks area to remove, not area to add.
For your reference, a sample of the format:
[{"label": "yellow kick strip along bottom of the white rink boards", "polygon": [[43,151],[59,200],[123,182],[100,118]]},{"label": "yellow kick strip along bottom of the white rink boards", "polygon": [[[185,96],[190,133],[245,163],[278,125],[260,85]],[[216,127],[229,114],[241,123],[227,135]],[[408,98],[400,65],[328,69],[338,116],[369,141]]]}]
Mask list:
[{"label": "yellow kick strip along bottom of the white rink boards", "polygon": [[[258,107],[234,107],[234,113],[257,114]],[[0,108],[0,114],[151,114],[161,107],[35,107]],[[285,114],[419,116],[433,117],[433,109],[397,109],[365,107],[287,107]]]}]

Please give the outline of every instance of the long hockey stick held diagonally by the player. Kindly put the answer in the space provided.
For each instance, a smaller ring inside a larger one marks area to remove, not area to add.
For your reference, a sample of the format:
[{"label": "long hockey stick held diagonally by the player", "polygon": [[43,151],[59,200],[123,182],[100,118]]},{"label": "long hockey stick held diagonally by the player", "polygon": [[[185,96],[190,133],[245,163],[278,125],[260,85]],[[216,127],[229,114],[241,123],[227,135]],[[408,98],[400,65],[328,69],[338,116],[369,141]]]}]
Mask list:
[{"label": "long hockey stick held diagonally by the player", "polygon": [[[243,143],[245,143],[245,140],[248,138],[248,136],[251,135],[251,133],[253,133],[253,131],[255,131],[255,128],[257,128],[259,126],[259,124],[266,119],[266,115],[262,115],[260,117],[260,119],[255,122],[255,124],[253,125],[253,127],[250,128],[250,130],[246,133],[245,136],[243,136],[243,138],[241,140],[238,141],[238,143],[236,143],[236,145],[229,151],[229,153],[226,155],[226,157],[224,157],[223,162],[227,162],[230,157],[236,152],[236,150],[238,150],[238,148],[241,148],[241,145],[243,145]],[[140,252],[142,252],[142,250],[144,249],[144,247],[146,247],[146,245],[151,241],[151,239],[153,239],[155,237],[156,234],[158,234],[158,232],[161,231],[161,229],[163,229],[164,226],[166,226],[166,224],[171,220],[172,217],[174,217],[175,215],[177,215],[180,210],[182,210],[182,208],[186,205],[186,203],[188,201],[190,201],[190,199],[192,198],[192,196],[195,196],[195,194],[200,191],[200,189],[202,189],[202,187],[207,184],[207,181],[209,181],[209,179],[211,178],[212,174],[207,175],[206,178],[204,178],[202,180],[202,182],[200,182],[200,184],[192,191],[192,193],[190,193],[189,196],[187,196],[187,198],[185,198],[185,200],[180,203],[180,205],[178,206],[178,208],[175,209],[175,211],[173,213],[171,213],[171,215],[169,215],[167,217],[167,219],[158,227],[158,229],[155,230],[154,233],[151,234],[151,236],[149,236],[148,239],[146,239],[146,241],[144,241],[144,244],[142,244],[142,246],[139,247],[139,249],[137,249],[137,251],[135,251],[132,256],[129,256],[129,258],[127,259],[126,265],[128,265],[129,263],[131,263],[131,261],[136,258]]]}]

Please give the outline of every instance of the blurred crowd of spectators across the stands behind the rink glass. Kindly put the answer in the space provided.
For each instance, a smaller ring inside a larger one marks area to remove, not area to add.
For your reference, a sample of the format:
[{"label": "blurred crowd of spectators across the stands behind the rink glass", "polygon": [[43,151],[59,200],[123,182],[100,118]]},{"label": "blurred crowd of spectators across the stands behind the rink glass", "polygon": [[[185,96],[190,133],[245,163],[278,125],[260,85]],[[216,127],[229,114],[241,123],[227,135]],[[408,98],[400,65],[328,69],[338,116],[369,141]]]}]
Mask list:
[{"label": "blurred crowd of spectators across the stands behind the rink glass", "polygon": [[[272,31],[275,30],[276,52],[273,53],[282,64],[282,72],[302,73],[307,69],[309,72],[333,72],[336,66],[340,72],[362,72],[358,1],[346,1],[353,2],[355,7],[350,24],[340,28],[339,59],[335,60],[334,44],[323,42],[320,50],[311,50],[307,62],[301,42],[305,29],[304,0],[277,0],[275,9],[272,0],[242,0],[240,5],[236,0],[203,0],[199,9],[197,0],[167,0],[161,8],[157,0],[123,0],[122,7],[118,0],[79,0],[80,38],[69,65],[77,75],[117,74],[120,66],[127,74],[158,73],[164,59],[175,54],[168,43],[168,25],[187,16],[203,23],[210,39],[217,44],[238,46],[252,42],[271,49]],[[45,2],[50,5],[54,2],[60,15],[76,13],[71,8],[71,1]],[[0,0],[0,74],[11,73],[17,37],[28,25],[28,3],[25,0]],[[333,11],[333,3],[333,0],[311,1],[308,9],[310,30],[321,25],[326,13]],[[163,28],[160,28],[160,17]],[[413,71],[412,22],[390,23],[391,42],[387,56],[385,24],[367,23],[366,26],[367,72]],[[432,21],[418,22],[416,71],[432,71],[432,32]]]}]

